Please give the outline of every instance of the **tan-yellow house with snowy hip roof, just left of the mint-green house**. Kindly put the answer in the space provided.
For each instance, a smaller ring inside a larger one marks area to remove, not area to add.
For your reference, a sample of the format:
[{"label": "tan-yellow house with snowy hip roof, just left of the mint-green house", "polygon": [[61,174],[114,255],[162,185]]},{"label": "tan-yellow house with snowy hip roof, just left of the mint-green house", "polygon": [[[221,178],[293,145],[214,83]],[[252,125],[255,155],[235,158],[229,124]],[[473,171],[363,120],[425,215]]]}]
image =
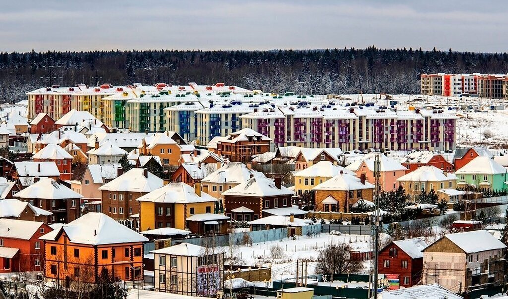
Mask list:
[{"label": "tan-yellow house with snowy hip roof, just left of the mint-green house", "polygon": [[397,179],[406,194],[415,199],[422,192],[441,189],[456,189],[457,176],[447,171],[442,171],[434,166],[422,166]]}]

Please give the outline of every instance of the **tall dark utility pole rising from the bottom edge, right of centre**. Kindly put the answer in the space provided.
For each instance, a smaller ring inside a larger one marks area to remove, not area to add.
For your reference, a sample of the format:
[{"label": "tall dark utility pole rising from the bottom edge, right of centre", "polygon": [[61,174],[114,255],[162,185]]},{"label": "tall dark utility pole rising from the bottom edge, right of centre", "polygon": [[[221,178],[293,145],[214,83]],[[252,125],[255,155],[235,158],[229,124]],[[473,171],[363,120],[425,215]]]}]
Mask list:
[{"label": "tall dark utility pole rising from the bottom edge, right of centre", "polygon": [[[377,262],[378,262],[378,248],[379,248],[379,225],[382,220],[382,215],[379,211],[379,155],[376,154],[374,159],[374,207],[375,210],[371,215],[370,219],[370,227],[371,227],[371,236],[374,238],[374,265],[373,265],[373,273],[372,273],[372,284],[373,284],[373,298],[377,299]],[[369,288],[370,290],[370,288]]]}]

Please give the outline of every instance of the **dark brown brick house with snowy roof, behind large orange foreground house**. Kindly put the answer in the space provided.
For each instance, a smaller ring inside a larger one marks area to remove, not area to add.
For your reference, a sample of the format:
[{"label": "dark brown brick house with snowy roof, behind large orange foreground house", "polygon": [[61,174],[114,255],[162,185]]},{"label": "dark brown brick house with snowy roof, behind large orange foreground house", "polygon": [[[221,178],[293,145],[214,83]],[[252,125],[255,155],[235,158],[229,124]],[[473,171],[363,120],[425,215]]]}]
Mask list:
[{"label": "dark brown brick house with snowy roof, behind large orange foreground house", "polygon": [[79,217],[83,195],[63,185],[59,178],[43,177],[14,197],[53,213],[49,223],[65,223]]}]

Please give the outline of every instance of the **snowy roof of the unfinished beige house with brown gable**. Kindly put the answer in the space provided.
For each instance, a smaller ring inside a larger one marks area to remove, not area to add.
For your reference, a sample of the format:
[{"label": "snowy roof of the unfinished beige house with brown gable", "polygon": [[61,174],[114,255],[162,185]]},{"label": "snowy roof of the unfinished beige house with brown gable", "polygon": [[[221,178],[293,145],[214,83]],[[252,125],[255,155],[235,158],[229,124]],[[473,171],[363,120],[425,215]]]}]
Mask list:
[{"label": "snowy roof of the unfinished beige house with brown gable", "polygon": [[[486,230],[452,233],[444,235],[465,253],[477,253],[506,248],[499,240]],[[439,242],[436,241],[436,242]]]}]

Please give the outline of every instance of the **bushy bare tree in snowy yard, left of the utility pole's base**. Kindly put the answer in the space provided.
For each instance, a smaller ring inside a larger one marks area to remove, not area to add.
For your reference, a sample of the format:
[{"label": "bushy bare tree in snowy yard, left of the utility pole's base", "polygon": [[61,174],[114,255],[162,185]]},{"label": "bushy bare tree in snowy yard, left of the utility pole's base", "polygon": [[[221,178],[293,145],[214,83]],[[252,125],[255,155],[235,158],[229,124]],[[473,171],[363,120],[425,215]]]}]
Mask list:
[{"label": "bushy bare tree in snowy yard, left of the utility pole's base", "polygon": [[325,248],[317,257],[316,273],[348,274],[357,273],[363,268],[362,262],[351,259],[351,246],[332,245]]}]

